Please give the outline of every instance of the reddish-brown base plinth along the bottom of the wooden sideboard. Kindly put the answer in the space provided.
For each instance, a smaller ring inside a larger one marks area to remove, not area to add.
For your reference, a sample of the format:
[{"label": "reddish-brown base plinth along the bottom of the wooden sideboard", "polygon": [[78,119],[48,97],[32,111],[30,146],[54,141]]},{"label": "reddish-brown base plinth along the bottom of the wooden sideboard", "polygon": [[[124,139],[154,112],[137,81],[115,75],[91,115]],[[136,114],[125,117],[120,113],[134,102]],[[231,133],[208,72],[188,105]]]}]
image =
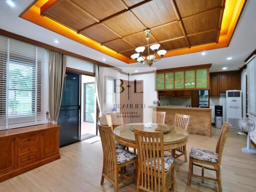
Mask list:
[{"label": "reddish-brown base plinth along the bottom of the wooden sideboard", "polygon": [[6,172],[5,174],[2,174],[0,175],[0,182],[4,181],[4,180],[7,180],[11,177],[14,177],[14,176],[17,176],[19,174],[22,174],[28,170],[32,170],[36,167],[39,167],[41,165],[44,165],[44,164],[47,164],[51,161],[54,161],[54,160],[57,160],[60,158],[60,154],[56,154],[54,156],[51,156],[49,158],[46,158],[46,159],[43,159],[43,160],[40,160],[40,161],[37,161],[37,162],[34,162],[32,164],[29,164],[27,166],[22,166],[20,168],[16,168],[14,170],[11,170],[10,172]]}]

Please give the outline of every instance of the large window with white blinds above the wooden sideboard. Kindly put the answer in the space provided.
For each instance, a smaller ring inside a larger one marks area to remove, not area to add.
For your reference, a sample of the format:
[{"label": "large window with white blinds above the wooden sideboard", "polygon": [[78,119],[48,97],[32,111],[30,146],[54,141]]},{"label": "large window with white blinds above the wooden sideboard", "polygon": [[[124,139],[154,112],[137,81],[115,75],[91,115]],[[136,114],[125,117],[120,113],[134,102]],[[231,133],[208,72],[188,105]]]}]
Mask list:
[{"label": "large window with white blinds above the wooden sideboard", "polygon": [[0,36],[0,129],[45,122],[45,54]]}]

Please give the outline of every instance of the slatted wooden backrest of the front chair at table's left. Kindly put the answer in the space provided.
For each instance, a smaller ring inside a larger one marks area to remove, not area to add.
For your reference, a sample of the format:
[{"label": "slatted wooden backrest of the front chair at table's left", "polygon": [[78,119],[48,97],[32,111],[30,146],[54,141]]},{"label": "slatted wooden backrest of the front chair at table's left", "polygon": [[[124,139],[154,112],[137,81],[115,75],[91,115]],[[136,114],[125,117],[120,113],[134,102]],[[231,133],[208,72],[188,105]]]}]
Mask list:
[{"label": "slatted wooden backrest of the front chair at table's left", "polygon": [[98,124],[98,130],[101,138],[103,150],[103,173],[112,183],[116,182],[114,175],[117,171],[117,157],[112,135],[111,126],[102,126]]}]

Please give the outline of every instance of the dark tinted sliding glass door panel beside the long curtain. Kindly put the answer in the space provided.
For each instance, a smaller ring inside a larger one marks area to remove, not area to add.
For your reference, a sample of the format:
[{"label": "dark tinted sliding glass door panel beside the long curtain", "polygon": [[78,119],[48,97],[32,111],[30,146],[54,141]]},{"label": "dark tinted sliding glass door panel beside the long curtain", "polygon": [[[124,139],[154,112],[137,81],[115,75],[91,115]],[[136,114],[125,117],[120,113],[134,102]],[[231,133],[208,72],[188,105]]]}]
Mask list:
[{"label": "dark tinted sliding glass door panel beside the long curtain", "polygon": [[79,140],[80,75],[66,72],[58,115],[60,146]]}]

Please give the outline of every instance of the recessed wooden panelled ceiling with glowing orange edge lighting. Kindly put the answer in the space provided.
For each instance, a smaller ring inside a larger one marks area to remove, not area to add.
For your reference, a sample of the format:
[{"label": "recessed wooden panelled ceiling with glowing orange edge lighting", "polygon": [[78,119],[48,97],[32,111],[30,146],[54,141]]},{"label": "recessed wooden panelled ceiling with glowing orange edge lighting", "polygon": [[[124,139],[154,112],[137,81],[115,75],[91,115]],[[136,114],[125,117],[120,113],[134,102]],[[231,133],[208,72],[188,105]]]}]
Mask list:
[{"label": "recessed wooden panelled ceiling with glowing orange edge lighting", "polygon": [[[109,48],[109,55],[114,56],[114,53],[122,55],[116,58],[130,63],[134,62],[129,58],[135,53],[134,48],[146,45],[143,33],[146,28],[151,29],[149,43],[160,43],[161,48],[168,51],[166,56],[170,56],[170,52],[174,50],[182,50],[181,54],[183,54],[189,52],[184,52],[185,49],[217,44],[223,25],[225,1],[230,2],[230,0],[38,0],[35,4],[37,3],[40,9],[40,17],[47,17],[48,20],[69,28],[77,36],[82,35],[91,39],[97,43],[97,46],[91,46],[95,49],[99,49],[100,46]],[[245,0],[232,1],[243,1],[238,4],[241,12]],[[21,14],[21,17],[27,19],[26,12]],[[106,49],[102,52],[107,53]]]}]

